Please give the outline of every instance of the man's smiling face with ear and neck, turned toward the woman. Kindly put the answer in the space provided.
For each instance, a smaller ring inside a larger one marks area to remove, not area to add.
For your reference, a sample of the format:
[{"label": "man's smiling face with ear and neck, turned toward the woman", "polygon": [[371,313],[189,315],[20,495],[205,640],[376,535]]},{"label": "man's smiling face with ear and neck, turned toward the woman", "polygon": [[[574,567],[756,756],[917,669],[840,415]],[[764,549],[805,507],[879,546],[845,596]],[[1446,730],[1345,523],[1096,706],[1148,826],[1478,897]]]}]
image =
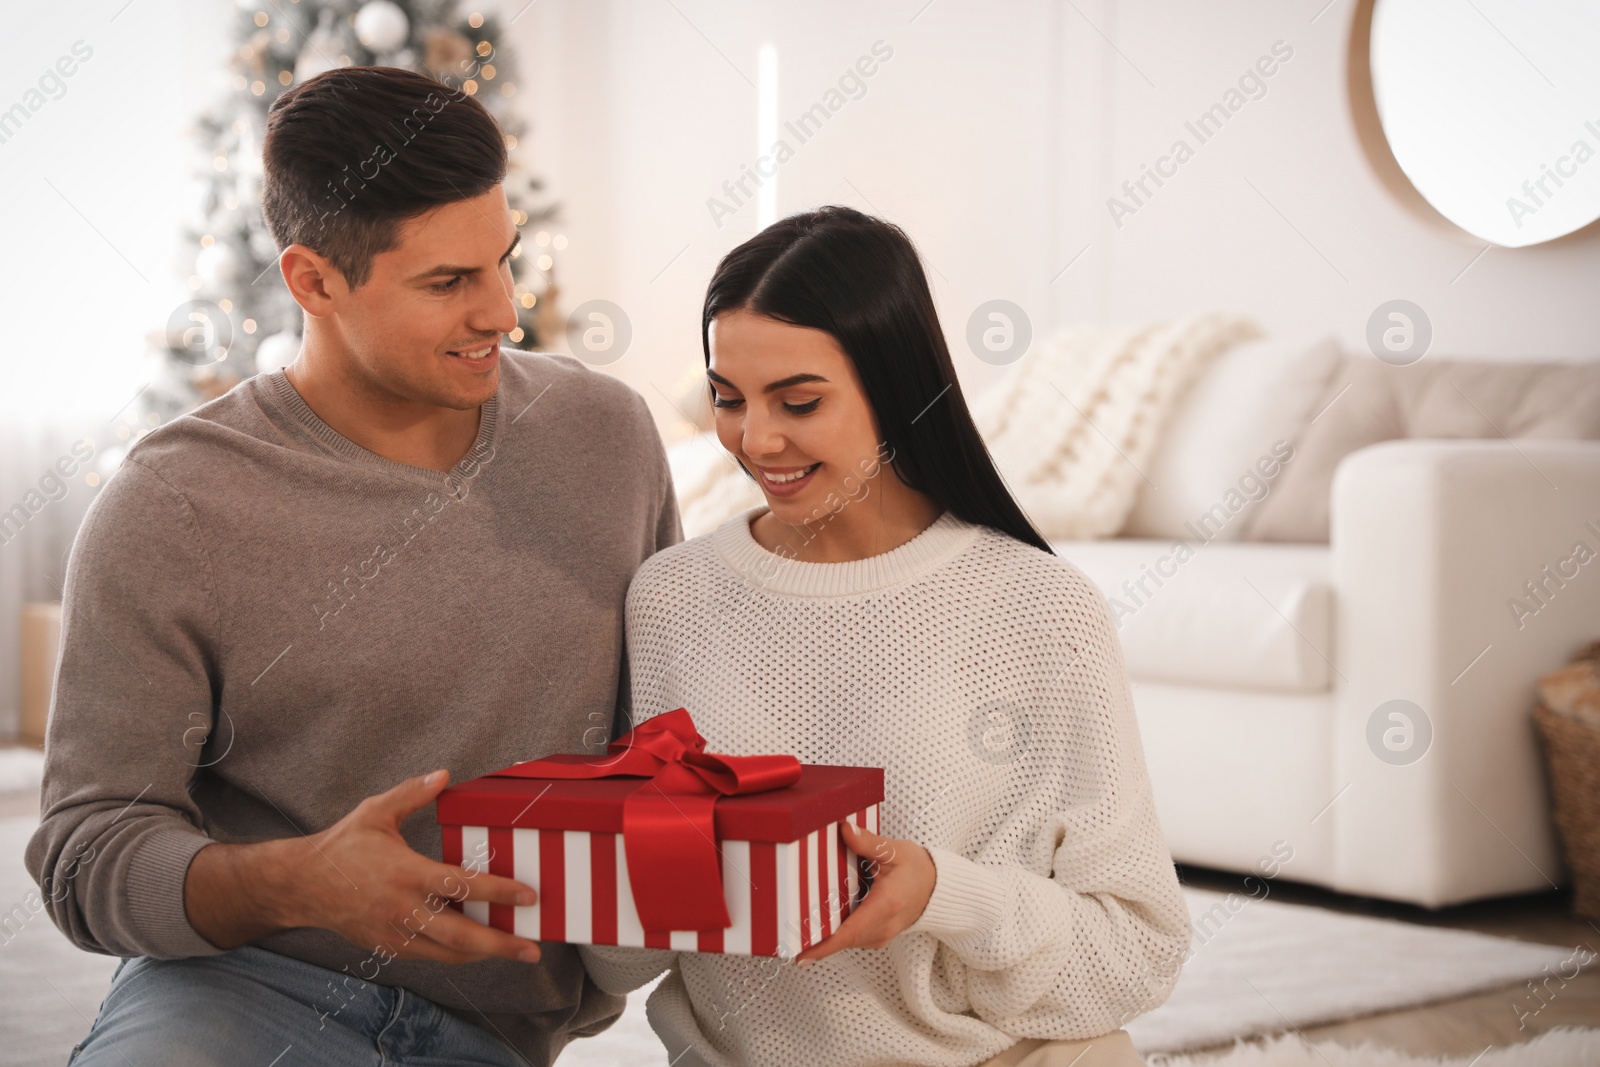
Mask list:
[{"label": "man's smiling face with ear and neck, turned toward the woman", "polygon": [[501,334],[517,328],[517,240],[501,186],[403,222],[360,288],[330,286],[347,370],[398,400],[480,406],[499,386]]}]

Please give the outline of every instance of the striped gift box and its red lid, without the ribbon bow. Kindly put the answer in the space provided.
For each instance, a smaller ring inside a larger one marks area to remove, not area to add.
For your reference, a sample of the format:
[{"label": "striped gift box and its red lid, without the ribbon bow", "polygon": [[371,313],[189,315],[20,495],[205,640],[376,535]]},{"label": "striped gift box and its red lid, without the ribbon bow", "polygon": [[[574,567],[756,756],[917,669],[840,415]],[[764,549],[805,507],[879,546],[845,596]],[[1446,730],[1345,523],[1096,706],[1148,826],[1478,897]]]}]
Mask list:
[{"label": "striped gift box and its red lid, without the ribbon bow", "polygon": [[539,902],[467,901],[469,918],[533,941],[792,957],[859,904],[866,862],[838,824],[878,830],[883,771],[805,765],[787,789],[717,801],[717,849],[733,925],[646,933],[622,840],[622,800],[640,779],[480,777],[438,798],[443,861],[517,878]]}]

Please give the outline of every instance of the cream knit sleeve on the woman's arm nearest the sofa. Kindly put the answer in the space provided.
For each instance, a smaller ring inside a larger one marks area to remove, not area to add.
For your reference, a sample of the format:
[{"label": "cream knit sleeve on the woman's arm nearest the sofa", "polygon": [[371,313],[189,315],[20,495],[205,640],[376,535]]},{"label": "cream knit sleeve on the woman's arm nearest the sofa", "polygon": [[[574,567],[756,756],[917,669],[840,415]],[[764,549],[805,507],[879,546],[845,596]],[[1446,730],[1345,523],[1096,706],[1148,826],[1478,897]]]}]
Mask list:
[{"label": "cream knit sleeve on the woman's arm nearest the sofa", "polygon": [[1014,803],[970,854],[930,848],[936,885],[907,928],[963,974],[971,1009],[1018,1037],[1094,1037],[1158,1006],[1189,945],[1104,600],[1064,590],[1072,648],[1026,704]]}]

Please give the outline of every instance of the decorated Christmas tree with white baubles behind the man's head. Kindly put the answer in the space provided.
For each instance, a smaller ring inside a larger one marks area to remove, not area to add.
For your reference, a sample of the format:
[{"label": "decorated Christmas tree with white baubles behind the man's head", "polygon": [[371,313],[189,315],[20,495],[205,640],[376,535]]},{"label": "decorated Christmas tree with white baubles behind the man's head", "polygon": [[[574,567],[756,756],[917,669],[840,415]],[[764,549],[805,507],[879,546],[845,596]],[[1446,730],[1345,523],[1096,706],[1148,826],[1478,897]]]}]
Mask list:
[{"label": "decorated Christmas tree with white baubles behind the man's head", "polygon": [[[152,339],[160,371],[142,394],[150,424],[219,397],[258,371],[277,370],[299,352],[301,310],[283,285],[278,250],[261,218],[261,139],[267,109],[282,93],[333,67],[406,67],[475,96],[504,130],[507,150],[517,147],[523,125],[514,110],[515,72],[499,46],[498,19],[477,11],[461,16],[458,3],[235,2],[234,91],[197,123],[205,224],[186,234],[194,254],[190,299]],[[506,198],[518,226],[554,218],[541,190],[512,155]],[[512,259],[518,325],[507,339],[518,347],[536,347],[552,325],[560,330],[550,253],[565,243],[541,229],[531,254]]]}]

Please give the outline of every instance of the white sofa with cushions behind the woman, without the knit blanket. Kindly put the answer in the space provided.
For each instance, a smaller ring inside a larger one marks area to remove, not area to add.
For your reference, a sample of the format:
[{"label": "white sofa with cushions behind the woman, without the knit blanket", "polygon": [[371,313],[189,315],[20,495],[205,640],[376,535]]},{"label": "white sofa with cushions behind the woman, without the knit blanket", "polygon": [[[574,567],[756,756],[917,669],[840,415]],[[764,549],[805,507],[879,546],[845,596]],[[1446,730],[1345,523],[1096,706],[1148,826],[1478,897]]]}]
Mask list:
[{"label": "white sofa with cushions behind the woman, without the knit blanket", "polygon": [[[1014,368],[1042,370],[1072,366]],[[1600,558],[1573,561],[1600,553],[1595,438],[1600,363],[1395,368],[1258,338],[1152,454],[1118,451],[1122,534],[1053,544],[1118,619],[1174,859],[1426,907],[1560,883],[1530,712],[1600,638]],[[669,454],[691,534],[760,502],[714,438]]]}]

